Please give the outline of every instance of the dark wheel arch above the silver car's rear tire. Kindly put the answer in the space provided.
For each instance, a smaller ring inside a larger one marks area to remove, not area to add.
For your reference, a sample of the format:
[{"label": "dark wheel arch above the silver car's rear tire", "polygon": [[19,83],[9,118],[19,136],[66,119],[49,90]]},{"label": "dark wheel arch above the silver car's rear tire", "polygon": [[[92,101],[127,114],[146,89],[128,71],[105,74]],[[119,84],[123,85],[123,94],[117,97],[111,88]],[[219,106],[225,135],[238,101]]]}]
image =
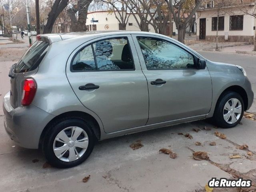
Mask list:
[{"label": "dark wheel arch above the silver car's rear tire", "polygon": [[54,122],[56,122],[62,118],[68,118],[68,117],[82,118],[83,120],[88,121],[88,123],[90,123],[91,126],[94,128],[92,131],[93,131],[96,139],[100,140],[100,137],[101,137],[100,125],[98,124],[97,120],[93,116],[91,116],[90,114],[88,114],[86,112],[70,111],[70,112],[64,112],[62,114],[59,114],[59,115],[55,116],[54,118],[52,118],[52,120],[50,120],[50,122],[48,122],[48,124],[44,127],[44,129],[41,133],[38,148],[41,148],[42,142],[44,140],[44,136],[46,135],[47,131],[51,128],[50,125],[52,125]]}]

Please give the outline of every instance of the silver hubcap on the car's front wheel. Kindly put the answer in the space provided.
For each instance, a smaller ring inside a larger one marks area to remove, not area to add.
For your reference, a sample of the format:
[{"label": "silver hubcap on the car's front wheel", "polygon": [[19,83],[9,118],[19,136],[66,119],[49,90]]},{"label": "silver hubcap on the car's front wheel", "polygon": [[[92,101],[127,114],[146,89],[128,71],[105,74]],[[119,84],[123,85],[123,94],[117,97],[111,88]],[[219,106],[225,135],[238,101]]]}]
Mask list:
[{"label": "silver hubcap on the car's front wheel", "polygon": [[232,98],[226,102],[223,109],[223,118],[228,124],[234,124],[238,121],[242,113],[242,104],[236,99]]}]

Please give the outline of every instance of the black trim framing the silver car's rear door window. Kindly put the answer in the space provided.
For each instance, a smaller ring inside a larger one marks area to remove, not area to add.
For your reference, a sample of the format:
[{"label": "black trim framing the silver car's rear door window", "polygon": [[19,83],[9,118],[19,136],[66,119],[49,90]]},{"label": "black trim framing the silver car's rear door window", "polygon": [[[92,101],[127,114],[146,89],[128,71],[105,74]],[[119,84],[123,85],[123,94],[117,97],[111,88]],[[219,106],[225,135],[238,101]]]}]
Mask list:
[{"label": "black trim framing the silver car's rear door window", "polygon": [[[129,45],[129,50],[130,50],[130,54],[132,56],[132,65],[133,65],[133,69],[122,69],[122,70],[119,70],[119,69],[109,69],[109,70],[73,70],[72,68],[72,63],[74,61],[74,58],[76,57],[76,55],[78,54],[78,52],[80,52],[81,50],[83,50],[86,46],[89,46],[91,45],[92,46],[92,52],[93,52],[93,56],[94,56],[94,62],[95,62],[95,66],[97,66],[97,62],[96,62],[96,57],[95,57],[95,52],[94,52],[94,48],[93,48],[93,45],[95,42],[98,42],[98,41],[102,41],[102,40],[107,40],[107,39],[114,39],[114,38],[126,38],[127,40],[127,43]],[[74,56],[72,57],[71,59],[71,62],[70,62],[70,71],[71,72],[104,72],[104,71],[135,71],[136,68],[135,68],[135,64],[134,64],[134,58],[133,58],[133,54],[132,54],[132,49],[131,49],[131,46],[130,46],[130,42],[129,42],[129,38],[128,38],[128,35],[124,35],[124,36],[114,36],[114,37],[107,37],[107,38],[103,38],[103,39],[100,39],[100,40],[95,40],[93,42],[90,42],[89,44],[86,44],[85,46],[83,46],[82,48],[80,48],[75,54]]]}]

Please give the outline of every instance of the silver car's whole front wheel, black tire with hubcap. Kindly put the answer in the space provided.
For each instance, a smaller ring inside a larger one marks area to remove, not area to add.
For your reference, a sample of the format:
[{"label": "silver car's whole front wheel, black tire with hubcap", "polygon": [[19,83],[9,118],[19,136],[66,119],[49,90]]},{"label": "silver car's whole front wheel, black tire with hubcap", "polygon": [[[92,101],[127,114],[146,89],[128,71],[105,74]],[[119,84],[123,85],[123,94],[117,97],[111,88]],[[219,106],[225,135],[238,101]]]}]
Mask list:
[{"label": "silver car's whole front wheel, black tire with hubcap", "polygon": [[221,128],[232,128],[242,119],[244,101],[237,92],[229,91],[222,94],[216,104],[213,123]]}]

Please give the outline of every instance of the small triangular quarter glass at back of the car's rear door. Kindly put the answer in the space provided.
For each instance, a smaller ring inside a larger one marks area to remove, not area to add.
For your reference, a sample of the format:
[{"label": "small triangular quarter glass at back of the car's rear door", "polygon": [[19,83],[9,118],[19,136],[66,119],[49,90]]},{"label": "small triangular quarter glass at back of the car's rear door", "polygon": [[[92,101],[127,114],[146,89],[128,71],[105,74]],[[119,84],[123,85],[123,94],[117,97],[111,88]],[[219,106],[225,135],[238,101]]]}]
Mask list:
[{"label": "small triangular quarter glass at back of the car's rear door", "polygon": [[74,71],[96,70],[96,64],[94,61],[91,45],[86,46],[76,54],[72,62],[72,69]]}]

